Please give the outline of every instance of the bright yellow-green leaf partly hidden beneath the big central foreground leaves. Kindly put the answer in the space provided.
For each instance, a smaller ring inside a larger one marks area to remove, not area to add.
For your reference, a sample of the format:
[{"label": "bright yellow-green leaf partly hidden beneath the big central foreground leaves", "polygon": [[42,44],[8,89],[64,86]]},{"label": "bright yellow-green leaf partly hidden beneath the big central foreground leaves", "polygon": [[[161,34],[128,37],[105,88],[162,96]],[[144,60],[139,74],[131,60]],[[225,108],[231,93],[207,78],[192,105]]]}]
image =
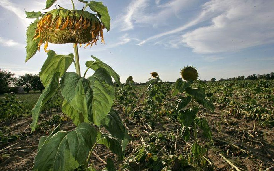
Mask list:
[{"label": "bright yellow-green leaf partly hidden beneath the big central foreground leaves", "polygon": [[[80,124],[79,114],[82,114],[82,113],[80,113],[78,110],[75,110],[73,106],[71,106],[71,104],[69,104],[69,102],[66,100],[63,101],[62,111],[64,114],[67,114],[72,119],[72,122],[76,126]],[[84,117],[84,122],[89,123],[90,121],[88,120],[87,117]]]}]

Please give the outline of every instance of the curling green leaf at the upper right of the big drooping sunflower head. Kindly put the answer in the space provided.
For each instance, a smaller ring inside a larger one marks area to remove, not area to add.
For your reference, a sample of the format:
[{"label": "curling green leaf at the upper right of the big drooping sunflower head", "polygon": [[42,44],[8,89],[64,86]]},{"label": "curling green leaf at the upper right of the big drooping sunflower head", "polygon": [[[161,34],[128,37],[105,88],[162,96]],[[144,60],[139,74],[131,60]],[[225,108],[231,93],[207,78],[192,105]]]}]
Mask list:
[{"label": "curling green leaf at the upper right of the big drooping sunflower head", "polygon": [[97,12],[101,22],[105,28],[110,30],[110,15],[108,14],[108,8],[103,5],[102,2],[90,1],[88,6],[94,12]]}]

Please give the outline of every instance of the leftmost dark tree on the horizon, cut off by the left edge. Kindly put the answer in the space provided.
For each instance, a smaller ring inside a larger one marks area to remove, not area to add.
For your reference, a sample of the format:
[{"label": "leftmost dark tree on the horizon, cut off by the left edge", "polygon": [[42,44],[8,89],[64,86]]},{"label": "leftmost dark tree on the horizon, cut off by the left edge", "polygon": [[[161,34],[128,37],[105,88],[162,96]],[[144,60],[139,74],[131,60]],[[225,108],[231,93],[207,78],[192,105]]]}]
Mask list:
[{"label": "leftmost dark tree on the horizon, cut off by the left edge", "polygon": [[14,73],[0,69],[0,94],[8,91],[10,85],[14,84],[16,78]]}]

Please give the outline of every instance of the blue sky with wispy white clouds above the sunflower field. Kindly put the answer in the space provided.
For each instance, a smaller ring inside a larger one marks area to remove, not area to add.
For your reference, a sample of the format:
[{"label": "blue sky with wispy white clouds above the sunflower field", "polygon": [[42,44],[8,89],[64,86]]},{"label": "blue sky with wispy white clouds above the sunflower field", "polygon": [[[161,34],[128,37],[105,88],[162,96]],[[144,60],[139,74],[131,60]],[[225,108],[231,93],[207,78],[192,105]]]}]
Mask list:
[{"label": "blue sky with wispy white clouds above the sunflower field", "polygon": [[[84,4],[73,0],[76,9]],[[199,79],[232,78],[274,71],[273,0],[102,0],[111,17],[105,44],[79,49],[82,74],[91,55],[110,65],[121,82],[133,76],[146,82],[151,72],[176,81],[180,70],[194,66]],[[38,74],[47,54],[37,52],[25,63],[26,29],[34,19],[25,10],[47,12],[46,0],[0,3],[0,69],[16,76]],[[43,46],[43,45],[42,45]],[[57,54],[73,53],[72,44],[50,44]],[[72,65],[69,71],[75,71]],[[90,70],[87,76],[92,75]]]}]

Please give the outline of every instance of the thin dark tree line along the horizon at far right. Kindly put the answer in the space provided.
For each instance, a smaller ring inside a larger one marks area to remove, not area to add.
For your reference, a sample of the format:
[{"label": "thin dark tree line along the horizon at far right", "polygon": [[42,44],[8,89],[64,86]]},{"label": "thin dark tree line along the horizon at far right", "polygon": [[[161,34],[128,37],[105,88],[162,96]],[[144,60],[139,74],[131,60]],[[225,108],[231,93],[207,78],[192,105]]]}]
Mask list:
[{"label": "thin dark tree line along the horizon at far right", "polygon": [[[220,78],[219,81],[238,81],[238,80],[274,80],[274,72],[271,72],[269,74],[252,74],[247,77],[245,76],[238,76],[228,79]],[[216,81],[216,78],[211,78],[210,81]]]}]

